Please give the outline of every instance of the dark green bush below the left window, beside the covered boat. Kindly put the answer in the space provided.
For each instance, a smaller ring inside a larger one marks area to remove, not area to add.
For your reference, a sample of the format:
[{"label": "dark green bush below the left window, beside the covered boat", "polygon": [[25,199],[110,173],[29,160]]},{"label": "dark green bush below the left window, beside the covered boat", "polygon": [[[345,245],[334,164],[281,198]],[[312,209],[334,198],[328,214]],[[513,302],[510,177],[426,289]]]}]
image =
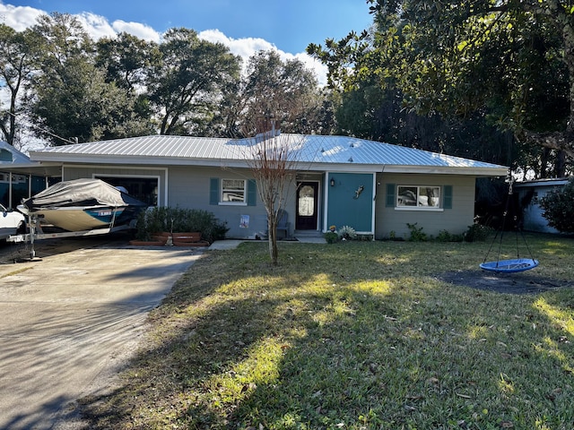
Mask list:
[{"label": "dark green bush below the left window, beside the covered boat", "polygon": [[135,228],[135,237],[139,240],[150,240],[154,233],[161,231],[199,232],[202,238],[210,243],[225,238],[225,233],[229,230],[212,212],[170,207],[153,207],[143,211]]}]

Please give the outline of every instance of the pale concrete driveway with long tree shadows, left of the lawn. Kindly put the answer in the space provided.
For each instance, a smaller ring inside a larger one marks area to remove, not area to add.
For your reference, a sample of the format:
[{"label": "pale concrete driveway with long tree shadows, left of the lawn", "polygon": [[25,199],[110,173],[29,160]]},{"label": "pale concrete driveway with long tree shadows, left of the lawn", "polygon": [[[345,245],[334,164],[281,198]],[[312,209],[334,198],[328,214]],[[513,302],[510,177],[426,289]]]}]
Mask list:
[{"label": "pale concrete driveway with long tree shadows, left of the lawn", "polygon": [[81,428],[74,400],[106,390],[147,313],[201,255],[87,237],[46,246],[39,262],[6,262],[3,250],[0,429]]}]

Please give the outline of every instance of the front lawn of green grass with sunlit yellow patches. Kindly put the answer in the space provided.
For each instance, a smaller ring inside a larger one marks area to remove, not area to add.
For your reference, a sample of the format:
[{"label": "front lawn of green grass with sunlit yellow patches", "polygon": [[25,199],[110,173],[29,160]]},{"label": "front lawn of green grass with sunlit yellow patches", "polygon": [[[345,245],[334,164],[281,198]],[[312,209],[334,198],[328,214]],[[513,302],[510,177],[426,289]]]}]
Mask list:
[{"label": "front lawn of green grass with sunlit yellow patches", "polygon": [[[574,279],[572,239],[527,240],[536,275]],[[289,243],[279,267],[262,243],[210,252],[84,413],[123,429],[572,428],[574,290],[436,277],[480,271],[488,245]]]}]

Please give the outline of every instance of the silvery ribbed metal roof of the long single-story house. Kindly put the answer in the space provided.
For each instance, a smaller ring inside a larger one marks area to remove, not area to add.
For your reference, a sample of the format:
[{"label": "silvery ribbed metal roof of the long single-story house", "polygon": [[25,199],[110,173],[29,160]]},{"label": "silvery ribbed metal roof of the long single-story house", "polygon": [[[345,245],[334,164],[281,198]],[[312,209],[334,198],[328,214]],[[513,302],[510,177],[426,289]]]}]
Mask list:
[{"label": "silvery ribbed metal roof of the long single-story house", "polygon": [[[483,161],[452,157],[427,150],[416,150],[388,143],[348,136],[279,134],[279,144],[287,145],[298,163],[309,163],[326,171],[336,168],[404,171],[426,168],[429,171],[462,170],[476,175],[506,175],[507,169]],[[152,135],[103,142],[78,143],[30,152],[34,161],[138,163],[148,165],[247,166],[248,159],[264,148],[261,140],[234,140],[211,137]]]}]

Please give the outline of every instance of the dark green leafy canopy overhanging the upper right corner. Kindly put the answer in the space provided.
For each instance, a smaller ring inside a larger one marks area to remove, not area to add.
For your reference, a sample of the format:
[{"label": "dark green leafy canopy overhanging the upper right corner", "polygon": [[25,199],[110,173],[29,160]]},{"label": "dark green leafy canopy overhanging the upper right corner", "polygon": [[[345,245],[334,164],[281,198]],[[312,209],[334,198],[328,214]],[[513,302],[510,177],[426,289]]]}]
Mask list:
[{"label": "dark green leafy canopy overhanging the upper right corner", "polygon": [[482,118],[481,128],[496,127],[500,142],[505,133],[513,136],[513,146],[502,151],[508,159],[496,161],[537,176],[565,173],[574,155],[569,2],[368,3],[370,30],[308,47],[329,66],[332,87],[345,94],[390,91],[404,111],[455,124]]}]

